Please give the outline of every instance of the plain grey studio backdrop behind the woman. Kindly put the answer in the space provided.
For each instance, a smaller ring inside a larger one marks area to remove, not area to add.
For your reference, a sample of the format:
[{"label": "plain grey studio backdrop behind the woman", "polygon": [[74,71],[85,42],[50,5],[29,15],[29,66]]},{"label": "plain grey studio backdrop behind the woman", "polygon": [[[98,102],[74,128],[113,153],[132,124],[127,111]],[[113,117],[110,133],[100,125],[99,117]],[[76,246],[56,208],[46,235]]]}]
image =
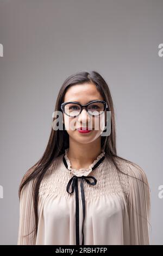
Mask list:
[{"label": "plain grey studio backdrop behind the woman", "polygon": [[116,112],[117,152],[151,187],[151,243],[163,244],[161,0],[0,0],[0,244],[16,245],[18,186],[43,154],[61,84],[97,70]]}]

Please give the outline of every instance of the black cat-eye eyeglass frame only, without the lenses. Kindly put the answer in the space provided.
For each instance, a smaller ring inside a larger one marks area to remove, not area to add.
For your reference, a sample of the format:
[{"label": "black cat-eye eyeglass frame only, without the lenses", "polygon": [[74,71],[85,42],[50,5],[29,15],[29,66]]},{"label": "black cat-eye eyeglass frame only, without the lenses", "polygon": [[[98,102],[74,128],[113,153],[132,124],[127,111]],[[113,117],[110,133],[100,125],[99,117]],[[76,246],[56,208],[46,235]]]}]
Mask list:
[{"label": "black cat-eye eyeglass frame only, without the lenses", "polygon": [[[61,103],[61,110],[65,113],[65,106],[66,106],[67,104],[69,104],[69,103],[76,103],[76,104],[78,104],[78,105],[81,107],[80,113],[79,113],[78,115],[80,115],[80,114],[82,113],[83,108],[86,108],[86,112],[89,113],[89,112],[87,111],[87,107],[88,107],[90,104],[94,103],[94,102],[99,102],[99,103],[103,103],[103,104],[104,104],[104,110],[103,110],[103,112],[106,110],[106,108],[108,108],[108,104],[107,104],[107,102],[105,102],[104,100],[93,100],[93,101],[87,103],[86,105],[82,105],[82,104],[80,104],[80,103],[78,103],[78,102],[76,102],[76,101],[69,101],[69,102],[63,102],[63,103]],[[66,114],[66,113],[65,113],[65,114]],[[89,114],[90,114],[90,113],[89,113]],[[101,114],[102,114],[102,113],[101,113]],[[99,114],[99,115],[101,115],[101,114]],[[66,115],[68,115],[68,114],[66,114]],[[74,117],[78,117],[78,115],[74,115]],[[92,115],[92,114],[90,114],[90,115]],[[92,115],[92,116],[98,117],[99,115]],[[71,116],[71,115],[68,115],[68,117],[72,117],[72,116]],[[72,118],[74,118],[74,117],[72,117]]]}]

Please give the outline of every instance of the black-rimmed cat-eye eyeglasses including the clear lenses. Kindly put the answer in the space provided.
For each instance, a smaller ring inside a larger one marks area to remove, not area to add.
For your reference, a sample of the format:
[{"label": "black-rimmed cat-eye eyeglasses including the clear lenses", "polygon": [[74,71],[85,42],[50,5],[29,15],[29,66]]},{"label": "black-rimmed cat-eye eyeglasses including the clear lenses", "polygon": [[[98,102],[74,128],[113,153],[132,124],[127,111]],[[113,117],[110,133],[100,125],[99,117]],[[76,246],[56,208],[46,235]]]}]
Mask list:
[{"label": "black-rimmed cat-eye eyeglasses including the clear lenses", "polygon": [[83,108],[86,108],[87,113],[90,115],[97,116],[102,114],[105,109],[108,108],[108,104],[103,100],[91,101],[86,105],[82,105],[75,101],[61,103],[62,111],[69,117],[77,117],[82,112]]}]

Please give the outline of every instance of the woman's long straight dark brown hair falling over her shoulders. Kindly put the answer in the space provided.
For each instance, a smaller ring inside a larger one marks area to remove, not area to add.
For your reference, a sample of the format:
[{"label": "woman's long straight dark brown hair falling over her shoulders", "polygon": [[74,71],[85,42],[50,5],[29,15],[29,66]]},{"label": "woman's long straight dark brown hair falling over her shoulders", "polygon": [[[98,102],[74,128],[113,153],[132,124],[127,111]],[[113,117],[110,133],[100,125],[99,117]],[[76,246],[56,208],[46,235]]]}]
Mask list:
[{"label": "woman's long straight dark brown hair falling over her shoulders", "polygon": [[[108,84],[106,84],[104,78],[101,75],[99,75],[97,71],[91,71],[91,72],[80,71],[80,72],[77,72],[76,74],[69,76],[60,88],[54,111],[61,111],[61,103],[64,102],[64,96],[67,88],[76,84],[83,84],[85,82],[95,84],[98,92],[101,94],[104,101],[108,103],[109,111],[111,111],[111,133],[110,133],[110,136],[101,136],[101,148],[104,149],[105,155],[109,156],[110,161],[114,164],[116,169],[119,172],[123,173],[122,170],[120,170],[120,168],[118,167],[116,159],[125,160],[131,164],[134,164],[134,163],[117,155],[114,105],[112,102],[112,97],[110,94]],[[53,121],[54,120],[55,120],[55,117],[53,118]],[[63,154],[65,152],[65,149],[67,149],[68,147],[69,147],[69,135],[67,131],[54,130],[52,127],[47,147],[41,159],[37,161],[34,164],[34,166],[28,169],[22,178],[22,181],[18,190],[19,198],[24,185],[26,185],[32,179],[35,180],[34,186],[33,186],[35,229],[33,231],[35,231],[36,233],[37,233],[37,226],[38,226],[37,203],[39,198],[38,195],[39,195],[39,187],[40,187],[41,180],[43,179],[43,176],[46,174],[48,167],[51,165],[55,157],[58,157],[59,155]],[[123,174],[128,175],[126,173],[123,173]],[[133,178],[136,178],[136,177],[133,176]],[[145,183],[144,181],[142,182]],[[148,184],[146,185],[148,186]],[[148,202],[148,204],[149,203],[150,201]]]}]

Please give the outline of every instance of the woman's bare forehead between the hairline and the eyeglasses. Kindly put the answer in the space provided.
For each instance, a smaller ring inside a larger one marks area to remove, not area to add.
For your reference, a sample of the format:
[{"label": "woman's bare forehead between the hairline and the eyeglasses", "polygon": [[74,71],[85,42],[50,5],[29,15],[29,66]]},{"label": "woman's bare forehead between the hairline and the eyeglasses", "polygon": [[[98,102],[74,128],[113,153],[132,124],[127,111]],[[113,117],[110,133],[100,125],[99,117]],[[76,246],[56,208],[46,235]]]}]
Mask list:
[{"label": "woman's bare forehead between the hairline and the eyeglasses", "polygon": [[64,102],[77,101],[81,104],[92,100],[103,100],[95,84],[92,83],[75,84],[67,89],[64,97]]}]

